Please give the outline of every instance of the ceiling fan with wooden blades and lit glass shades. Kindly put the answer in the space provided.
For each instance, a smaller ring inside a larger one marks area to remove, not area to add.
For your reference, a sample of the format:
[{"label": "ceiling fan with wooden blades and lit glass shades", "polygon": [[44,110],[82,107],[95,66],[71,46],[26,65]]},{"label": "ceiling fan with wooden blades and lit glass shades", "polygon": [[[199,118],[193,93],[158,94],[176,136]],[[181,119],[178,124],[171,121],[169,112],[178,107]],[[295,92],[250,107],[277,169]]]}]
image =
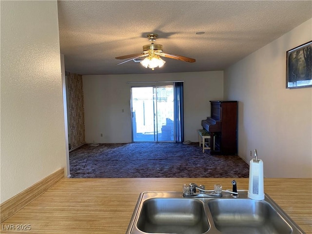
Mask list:
[{"label": "ceiling fan with wooden blades and lit glass shades", "polygon": [[185,62],[195,62],[195,59],[184,57],[181,55],[174,55],[174,54],[168,54],[162,52],[162,45],[161,44],[154,44],[154,41],[157,39],[158,35],[151,33],[146,35],[146,37],[152,41],[151,44],[148,45],[143,45],[143,52],[138,53],[138,54],[132,54],[132,55],[124,55],[124,56],[119,56],[116,57],[115,59],[128,59],[125,61],[122,61],[119,64],[134,60],[137,61],[138,58],[143,58],[146,57],[145,59],[141,60],[140,63],[145,67],[145,68],[151,68],[154,70],[155,67],[162,67],[165,63],[164,60],[162,60],[160,57],[165,57],[169,59],[177,59]]}]

